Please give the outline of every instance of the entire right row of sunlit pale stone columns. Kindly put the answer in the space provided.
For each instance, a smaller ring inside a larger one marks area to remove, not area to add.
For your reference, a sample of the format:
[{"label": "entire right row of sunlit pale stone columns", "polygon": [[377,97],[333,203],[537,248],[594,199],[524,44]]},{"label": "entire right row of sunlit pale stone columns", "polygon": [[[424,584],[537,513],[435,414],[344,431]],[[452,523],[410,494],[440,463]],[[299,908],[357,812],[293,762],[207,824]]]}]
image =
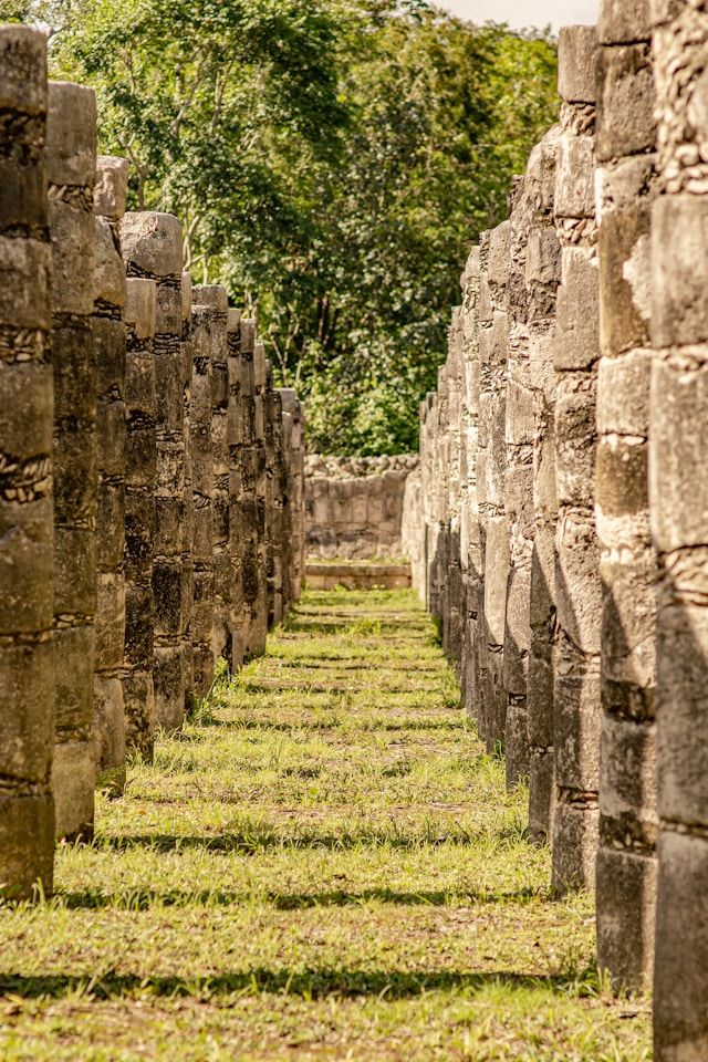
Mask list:
[{"label": "entire right row of sunlit pale stone columns", "polygon": [[421,406],[414,550],[554,891],[595,889],[671,1062],[708,1052],[707,56],[683,0],[561,32],[560,122]]}]

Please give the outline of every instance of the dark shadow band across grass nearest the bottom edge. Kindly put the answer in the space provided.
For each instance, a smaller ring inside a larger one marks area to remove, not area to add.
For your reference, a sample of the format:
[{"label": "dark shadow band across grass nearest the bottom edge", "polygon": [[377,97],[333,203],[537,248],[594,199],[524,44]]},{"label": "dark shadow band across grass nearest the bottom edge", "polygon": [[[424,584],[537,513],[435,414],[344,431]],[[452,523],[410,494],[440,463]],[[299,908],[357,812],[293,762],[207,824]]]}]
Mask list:
[{"label": "dark shadow band across grass nearest the bottom edge", "polygon": [[82,992],[95,999],[115,999],[134,993],[158,997],[214,998],[271,993],[300,996],[306,1000],[327,997],[376,997],[412,999],[424,992],[464,992],[475,995],[486,988],[507,988],[513,992],[545,989],[554,993],[594,995],[593,971],[569,971],[556,976],[512,974],[508,970],[473,972],[466,970],[368,970],[347,967],[269,969],[254,967],[229,974],[192,977],[159,977],[136,974],[103,975],[54,974],[22,977],[0,974],[0,995],[24,999],[61,999]]}]

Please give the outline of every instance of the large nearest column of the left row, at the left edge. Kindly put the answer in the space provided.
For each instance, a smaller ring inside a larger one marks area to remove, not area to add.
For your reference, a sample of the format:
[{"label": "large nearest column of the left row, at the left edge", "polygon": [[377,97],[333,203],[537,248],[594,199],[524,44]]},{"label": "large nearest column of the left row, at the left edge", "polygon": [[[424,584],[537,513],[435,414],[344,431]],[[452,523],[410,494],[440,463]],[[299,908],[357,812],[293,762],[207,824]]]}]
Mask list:
[{"label": "large nearest column of the left row, at the left edge", "polygon": [[52,891],[52,367],[46,42],[0,29],[0,896]]}]

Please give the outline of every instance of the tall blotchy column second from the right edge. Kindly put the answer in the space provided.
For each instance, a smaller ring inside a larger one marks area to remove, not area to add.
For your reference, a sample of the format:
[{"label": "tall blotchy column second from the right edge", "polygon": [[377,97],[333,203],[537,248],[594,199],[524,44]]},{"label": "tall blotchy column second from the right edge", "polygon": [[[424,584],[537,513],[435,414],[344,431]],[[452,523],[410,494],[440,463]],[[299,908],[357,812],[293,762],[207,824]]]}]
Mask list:
[{"label": "tall blotchy column second from the right edge", "polygon": [[657,563],[649,528],[654,84],[648,4],[601,8],[601,352],[595,516],[604,592],[597,958],[624,988],[654,961]]}]

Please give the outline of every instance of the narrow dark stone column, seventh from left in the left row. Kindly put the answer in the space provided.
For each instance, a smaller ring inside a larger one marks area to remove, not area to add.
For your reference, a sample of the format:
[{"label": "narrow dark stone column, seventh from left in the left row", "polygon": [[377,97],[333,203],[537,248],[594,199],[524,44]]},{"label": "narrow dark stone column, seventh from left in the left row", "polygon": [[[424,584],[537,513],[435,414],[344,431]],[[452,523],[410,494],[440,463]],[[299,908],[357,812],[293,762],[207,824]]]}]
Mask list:
[{"label": "narrow dark stone column, seventh from left in the left row", "polygon": [[195,305],[191,311],[191,403],[189,407],[189,451],[194,491],[194,604],[191,645],[195,690],[205,697],[214,681],[215,593],[214,593],[214,346],[215,329],[220,332],[214,310]]}]

